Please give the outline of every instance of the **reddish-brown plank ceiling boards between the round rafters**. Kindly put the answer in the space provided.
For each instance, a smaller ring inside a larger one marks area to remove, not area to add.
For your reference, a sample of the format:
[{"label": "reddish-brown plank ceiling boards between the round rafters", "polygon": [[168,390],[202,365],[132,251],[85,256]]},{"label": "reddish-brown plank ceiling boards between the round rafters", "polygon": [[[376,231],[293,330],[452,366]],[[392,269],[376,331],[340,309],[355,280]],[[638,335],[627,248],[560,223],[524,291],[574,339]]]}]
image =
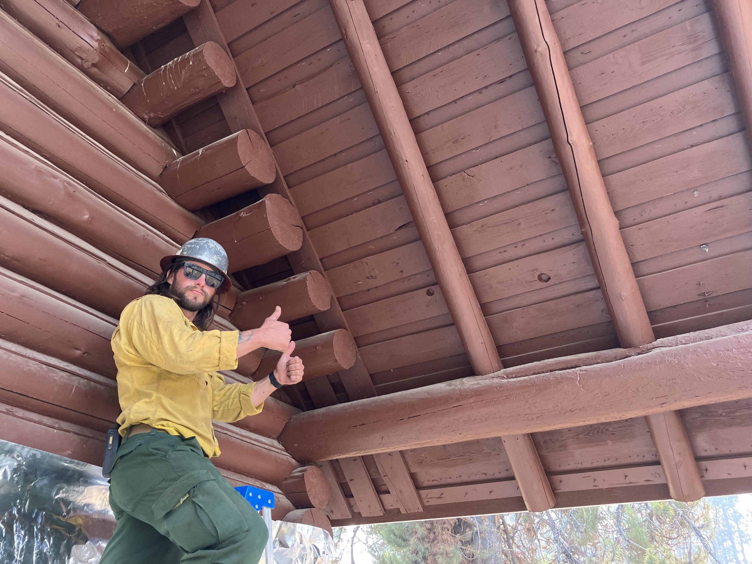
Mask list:
[{"label": "reddish-brown plank ceiling boards between the round rafters", "polygon": [[[328,0],[211,5],[375,393],[472,375]],[[365,6],[502,362],[618,347],[506,2]],[[656,338],[752,318],[752,156],[710,1],[547,7]],[[141,50],[156,68],[193,45],[178,20]],[[177,116],[186,150],[235,131],[225,115],[210,99]],[[291,272],[283,258],[238,280],[258,286]],[[314,320],[296,325],[298,338],[316,332]],[[363,397],[340,375],[328,378],[330,403]],[[310,409],[321,394],[301,385],[292,395]],[[681,417],[701,465],[752,455],[752,402]],[[657,464],[642,419],[533,441],[550,478]],[[421,504],[426,516],[522,508],[500,439],[399,459],[327,465],[349,504],[330,506],[335,524],[420,515]],[[628,487],[630,479],[595,495],[551,481],[559,505],[667,496],[665,479]],[[452,505],[462,499],[452,487],[466,495],[467,484],[484,483],[512,492],[496,504]],[[446,505],[433,511],[435,500],[415,487]]]}]

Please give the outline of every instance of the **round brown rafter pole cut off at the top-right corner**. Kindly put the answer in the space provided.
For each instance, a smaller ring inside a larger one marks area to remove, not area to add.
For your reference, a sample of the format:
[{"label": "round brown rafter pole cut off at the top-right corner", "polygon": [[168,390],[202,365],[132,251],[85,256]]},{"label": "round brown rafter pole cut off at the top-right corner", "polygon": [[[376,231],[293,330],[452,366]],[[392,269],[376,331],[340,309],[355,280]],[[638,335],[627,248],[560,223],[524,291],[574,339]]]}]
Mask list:
[{"label": "round brown rafter pole cut off at the top-right corner", "polygon": [[744,0],[713,0],[712,4],[752,147],[752,6]]}]

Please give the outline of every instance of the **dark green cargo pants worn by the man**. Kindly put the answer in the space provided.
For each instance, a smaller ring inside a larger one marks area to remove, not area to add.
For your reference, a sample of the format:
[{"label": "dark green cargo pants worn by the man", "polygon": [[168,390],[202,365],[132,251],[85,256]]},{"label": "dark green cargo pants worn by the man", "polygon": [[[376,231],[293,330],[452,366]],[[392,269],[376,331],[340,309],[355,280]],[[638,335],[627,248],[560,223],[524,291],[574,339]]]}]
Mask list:
[{"label": "dark green cargo pants worn by the man", "polygon": [[196,438],[126,439],[110,480],[115,533],[100,564],[257,564],[262,517],[204,456]]}]

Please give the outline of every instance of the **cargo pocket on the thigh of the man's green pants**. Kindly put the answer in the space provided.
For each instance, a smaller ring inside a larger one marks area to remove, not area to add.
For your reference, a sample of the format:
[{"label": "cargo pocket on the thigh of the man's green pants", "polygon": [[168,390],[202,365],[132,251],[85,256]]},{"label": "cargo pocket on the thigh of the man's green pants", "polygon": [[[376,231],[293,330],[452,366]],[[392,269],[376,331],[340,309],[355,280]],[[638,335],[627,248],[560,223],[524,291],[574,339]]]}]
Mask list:
[{"label": "cargo pocket on the thigh of the man's green pants", "polygon": [[154,504],[168,538],[187,553],[220,547],[248,531],[235,503],[206,470],[180,478]]}]

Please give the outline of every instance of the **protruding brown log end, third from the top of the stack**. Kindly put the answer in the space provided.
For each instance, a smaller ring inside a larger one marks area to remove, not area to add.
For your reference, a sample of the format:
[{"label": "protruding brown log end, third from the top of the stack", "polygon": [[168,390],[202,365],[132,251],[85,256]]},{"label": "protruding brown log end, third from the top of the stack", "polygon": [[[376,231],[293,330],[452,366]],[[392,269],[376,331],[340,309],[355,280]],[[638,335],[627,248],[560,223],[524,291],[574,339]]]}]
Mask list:
[{"label": "protruding brown log end, third from the top of the stack", "polygon": [[172,162],[157,180],[178,204],[205,208],[274,181],[274,154],[243,129]]}]

